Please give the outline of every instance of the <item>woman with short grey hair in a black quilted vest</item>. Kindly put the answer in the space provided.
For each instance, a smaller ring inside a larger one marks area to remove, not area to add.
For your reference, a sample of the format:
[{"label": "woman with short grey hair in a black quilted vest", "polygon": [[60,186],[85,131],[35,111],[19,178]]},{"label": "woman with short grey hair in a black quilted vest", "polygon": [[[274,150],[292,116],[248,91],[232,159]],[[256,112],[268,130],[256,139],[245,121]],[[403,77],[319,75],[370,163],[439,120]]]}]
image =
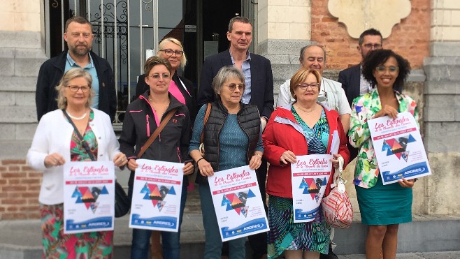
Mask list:
[{"label": "woman with short grey hair in a black quilted vest", "polygon": [[[196,116],[190,156],[196,161],[199,174],[201,212],[206,234],[206,246],[203,258],[220,258],[222,239],[217,225],[213,198],[210,193],[208,176],[217,171],[249,165],[257,169],[261,165],[263,147],[260,135],[260,115],[257,106],[241,102],[245,90],[245,77],[238,68],[224,66],[213,80],[213,89],[217,101],[203,105]],[[211,105],[209,119],[203,128],[206,108]],[[199,151],[200,137],[203,132],[205,155]],[[229,241],[230,258],[246,258],[246,238]]]}]

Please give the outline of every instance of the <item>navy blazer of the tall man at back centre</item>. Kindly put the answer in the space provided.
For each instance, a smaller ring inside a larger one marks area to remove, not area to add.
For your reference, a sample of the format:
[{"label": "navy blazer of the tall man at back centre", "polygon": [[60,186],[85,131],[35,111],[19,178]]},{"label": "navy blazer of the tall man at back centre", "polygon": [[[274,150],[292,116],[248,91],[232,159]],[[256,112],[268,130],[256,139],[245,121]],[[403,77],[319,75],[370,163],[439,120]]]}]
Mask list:
[{"label": "navy blazer of the tall man at back centre", "polygon": [[[270,118],[273,112],[273,75],[271,63],[265,57],[258,54],[251,56],[251,101],[250,104],[257,105],[261,117]],[[207,57],[201,68],[201,80],[196,103],[197,110],[205,103],[216,101],[217,98],[213,89],[213,79],[220,68],[232,66],[230,51],[225,50],[219,54]]]}]

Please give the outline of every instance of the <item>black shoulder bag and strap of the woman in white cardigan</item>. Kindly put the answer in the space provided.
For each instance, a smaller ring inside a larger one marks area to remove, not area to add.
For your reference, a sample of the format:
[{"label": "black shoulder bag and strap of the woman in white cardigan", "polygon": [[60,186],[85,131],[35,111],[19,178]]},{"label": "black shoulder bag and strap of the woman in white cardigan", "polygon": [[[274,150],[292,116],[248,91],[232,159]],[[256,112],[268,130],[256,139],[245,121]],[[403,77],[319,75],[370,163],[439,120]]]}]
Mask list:
[{"label": "black shoulder bag and strap of the woman in white cardigan", "polygon": [[[69,114],[67,114],[66,110],[62,110],[62,112],[64,112],[64,115],[66,115],[70,124],[72,124],[73,130],[75,133],[77,133],[77,136],[80,139],[82,146],[87,151],[89,158],[91,158],[92,161],[96,161],[96,158],[94,158],[93,154],[91,154],[91,150],[89,150],[88,143],[83,140],[82,135],[78,131],[78,128],[75,126],[75,124],[73,124]],[[119,184],[117,180],[115,180],[115,217],[120,218],[126,215],[129,212],[129,209],[131,209],[131,202],[129,202],[128,195],[126,192],[124,192],[122,185]]]}]

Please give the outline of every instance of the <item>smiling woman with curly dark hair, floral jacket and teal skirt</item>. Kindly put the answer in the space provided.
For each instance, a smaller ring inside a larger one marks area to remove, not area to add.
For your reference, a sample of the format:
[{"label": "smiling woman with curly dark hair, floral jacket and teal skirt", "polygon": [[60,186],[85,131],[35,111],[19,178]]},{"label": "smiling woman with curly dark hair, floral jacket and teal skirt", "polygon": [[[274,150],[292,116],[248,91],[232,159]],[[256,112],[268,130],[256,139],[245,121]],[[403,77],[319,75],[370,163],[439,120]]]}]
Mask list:
[{"label": "smiling woman with curly dark hair, floral jacket and teal skirt", "polygon": [[359,148],[354,170],[362,223],[369,225],[366,258],[394,258],[398,244],[398,224],[412,221],[412,186],[415,180],[401,179],[395,184],[382,184],[373,148],[369,119],[410,112],[418,121],[417,104],[396,91],[402,85],[410,64],[391,50],[375,50],[367,55],[363,75],[376,89],[354,99],[350,124],[350,144]]}]

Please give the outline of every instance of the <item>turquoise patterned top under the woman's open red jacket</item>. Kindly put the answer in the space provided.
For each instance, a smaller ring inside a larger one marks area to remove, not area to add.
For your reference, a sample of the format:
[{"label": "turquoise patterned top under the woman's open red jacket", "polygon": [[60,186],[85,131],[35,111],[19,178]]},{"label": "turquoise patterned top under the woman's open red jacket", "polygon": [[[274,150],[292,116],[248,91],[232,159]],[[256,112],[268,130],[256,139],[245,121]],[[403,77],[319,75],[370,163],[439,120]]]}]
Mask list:
[{"label": "turquoise patterned top under the woman's open red jacket", "polygon": [[329,142],[329,124],[327,124],[326,113],[324,110],[321,111],[321,117],[316,122],[313,128],[310,128],[305,121],[299,116],[294,108],[291,106],[292,114],[296,118],[297,123],[303,129],[303,135],[307,139],[308,153],[307,154],[326,154],[327,145]]}]

